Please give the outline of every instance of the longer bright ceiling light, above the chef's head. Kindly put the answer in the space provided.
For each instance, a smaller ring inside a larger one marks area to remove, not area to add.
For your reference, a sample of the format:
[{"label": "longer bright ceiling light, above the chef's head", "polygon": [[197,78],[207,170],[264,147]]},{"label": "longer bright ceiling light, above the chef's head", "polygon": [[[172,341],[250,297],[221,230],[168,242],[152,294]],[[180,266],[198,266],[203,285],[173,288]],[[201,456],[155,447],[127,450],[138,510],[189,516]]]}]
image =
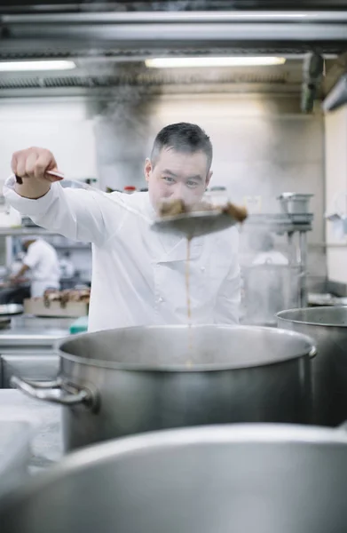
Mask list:
[{"label": "longer bright ceiling light, above the chef's head", "polygon": [[182,68],[182,67],[256,67],[265,65],[283,65],[285,58],[264,56],[234,56],[219,58],[155,58],[145,61],[149,68]]}]

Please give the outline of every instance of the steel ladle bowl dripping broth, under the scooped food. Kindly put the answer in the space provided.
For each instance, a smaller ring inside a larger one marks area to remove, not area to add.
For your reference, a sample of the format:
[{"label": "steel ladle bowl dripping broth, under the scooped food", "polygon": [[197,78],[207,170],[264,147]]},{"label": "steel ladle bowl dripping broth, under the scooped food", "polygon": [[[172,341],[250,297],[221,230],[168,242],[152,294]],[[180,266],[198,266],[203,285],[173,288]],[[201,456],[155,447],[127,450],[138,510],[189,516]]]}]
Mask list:
[{"label": "steel ladle bowl dripping broth, under the scooped food", "polygon": [[175,217],[156,219],[151,228],[154,231],[185,236],[188,239],[209,235],[237,224],[237,220],[220,211],[185,213]]}]

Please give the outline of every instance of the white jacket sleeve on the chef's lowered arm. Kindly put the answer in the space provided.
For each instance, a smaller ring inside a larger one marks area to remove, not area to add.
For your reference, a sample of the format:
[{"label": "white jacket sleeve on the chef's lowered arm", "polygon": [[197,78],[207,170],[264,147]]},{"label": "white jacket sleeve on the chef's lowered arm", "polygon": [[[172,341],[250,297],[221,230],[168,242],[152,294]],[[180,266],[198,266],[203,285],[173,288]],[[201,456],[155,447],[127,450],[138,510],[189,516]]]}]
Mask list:
[{"label": "white jacket sleeve on the chef's lowered arm", "polygon": [[217,294],[214,322],[217,324],[238,324],[241,306],[241,273],[239,266],[239,235],[234,243],[232,265]]}]

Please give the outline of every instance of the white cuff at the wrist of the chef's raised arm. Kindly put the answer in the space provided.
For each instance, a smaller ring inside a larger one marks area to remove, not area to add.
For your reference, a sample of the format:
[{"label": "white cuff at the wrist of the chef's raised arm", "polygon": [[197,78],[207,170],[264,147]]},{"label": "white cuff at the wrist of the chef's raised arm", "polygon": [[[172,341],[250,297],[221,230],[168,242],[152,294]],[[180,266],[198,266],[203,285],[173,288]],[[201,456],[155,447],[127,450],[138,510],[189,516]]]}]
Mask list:
[{"label": "white cuff at the wrist of the chef's raised arm", "polygon": [[3,194],[8,203],[12,205],[14,209],[20,211],[22,215],[28,215],[28,217],[39,217],[44,215],[51,207],[51,203],[59,195],[57,187],[61,187],[59,183],[52,183],[48,193],[37,200],[30,198],[24,198],[20,196],[14,190],[16,179],[14,176],[6,179],[4,182]]}]

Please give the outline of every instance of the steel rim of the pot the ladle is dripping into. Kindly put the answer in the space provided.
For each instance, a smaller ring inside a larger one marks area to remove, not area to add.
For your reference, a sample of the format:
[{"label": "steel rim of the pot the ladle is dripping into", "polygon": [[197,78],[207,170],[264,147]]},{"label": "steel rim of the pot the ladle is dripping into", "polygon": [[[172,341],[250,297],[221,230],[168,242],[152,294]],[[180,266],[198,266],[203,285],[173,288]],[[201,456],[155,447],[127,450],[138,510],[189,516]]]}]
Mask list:
[{"label": "steel rim of the pot the ladle is dripping into", "polygon": [[[80,333],[78,335],[73,335],[69,338],[63,338],[59,342],[59,355],[62,360],[67,360],[70,362],[75,362],[78,364],[83,364],[86,366],[93,366],[93,367],[99,367],[103,369],[110,369],[110,370],[125,370],[125,371],[150,371],[150,372],[184,372],[184,373],[193,373],[193,372],[213,372],[213,371],[222,371],[222,370],[246,370],[246,369],[256,369],[256,368],[262,368],[267,366],[272,366],[276,364],[280,364],[282,362],[288,362],[295,359],[300,359],[302,357],[309,358],[309,354],[312,351],[312,348],[314,348],[315,343],[311,337],[308,335],[305,335],[304,333],[300,333],[298,331],[290,331],[290,330],[284,330],[281,328],[270,328],[265,326],[240,326],[240,325],[234,325],[234,326],[228,326],[223,324],[197,324],[193,326],[185,326],[183,324],[171,324],[169,326],[134,326],[130,328],[122,328],[126,330],[167,330],[167,329],[176,329],[176,330],[182,330],[182,329],[188,329],[192,328],[193,330],[198,330],[206,327],[213,326],[214,329],[220,329],[220,330],[231,330],[234,328],[237,328],[238,330],[249,330],[251,328],[252,330],[265,330],[265,331],[273,331],[275,332],[274,335],[279,337],[280,335],[286,337],[286,338],[296,338],[303,341],[303,347],[301,350],[297,349],[294,354],[285,355],[282,357],[279,357],[277,360],[273,361],[270,359],[264,361],[264,362],[255,362],[255,361],[249,361],[243,364],[231,364],[231,363],[193,363],[192,366],[187,366],[186,364],[180,363],[173,363],[173,364],[148,364],[148,363],[130,363],[130,362],[114,362],[114,361],[104,361],[104,360],[97,360],[97,359],[87,359],[85,357],[81,357],[80,355],[74,355],[69,354],[68,352],[65,352],[62,348],[67,343],[71,342],[72,340],[75,340],[77,338],[85,338],[91,333]],[[106,331],[112,331],[112,330],[106,330]],[[304,347],[304,342],[307,346]]]}]

